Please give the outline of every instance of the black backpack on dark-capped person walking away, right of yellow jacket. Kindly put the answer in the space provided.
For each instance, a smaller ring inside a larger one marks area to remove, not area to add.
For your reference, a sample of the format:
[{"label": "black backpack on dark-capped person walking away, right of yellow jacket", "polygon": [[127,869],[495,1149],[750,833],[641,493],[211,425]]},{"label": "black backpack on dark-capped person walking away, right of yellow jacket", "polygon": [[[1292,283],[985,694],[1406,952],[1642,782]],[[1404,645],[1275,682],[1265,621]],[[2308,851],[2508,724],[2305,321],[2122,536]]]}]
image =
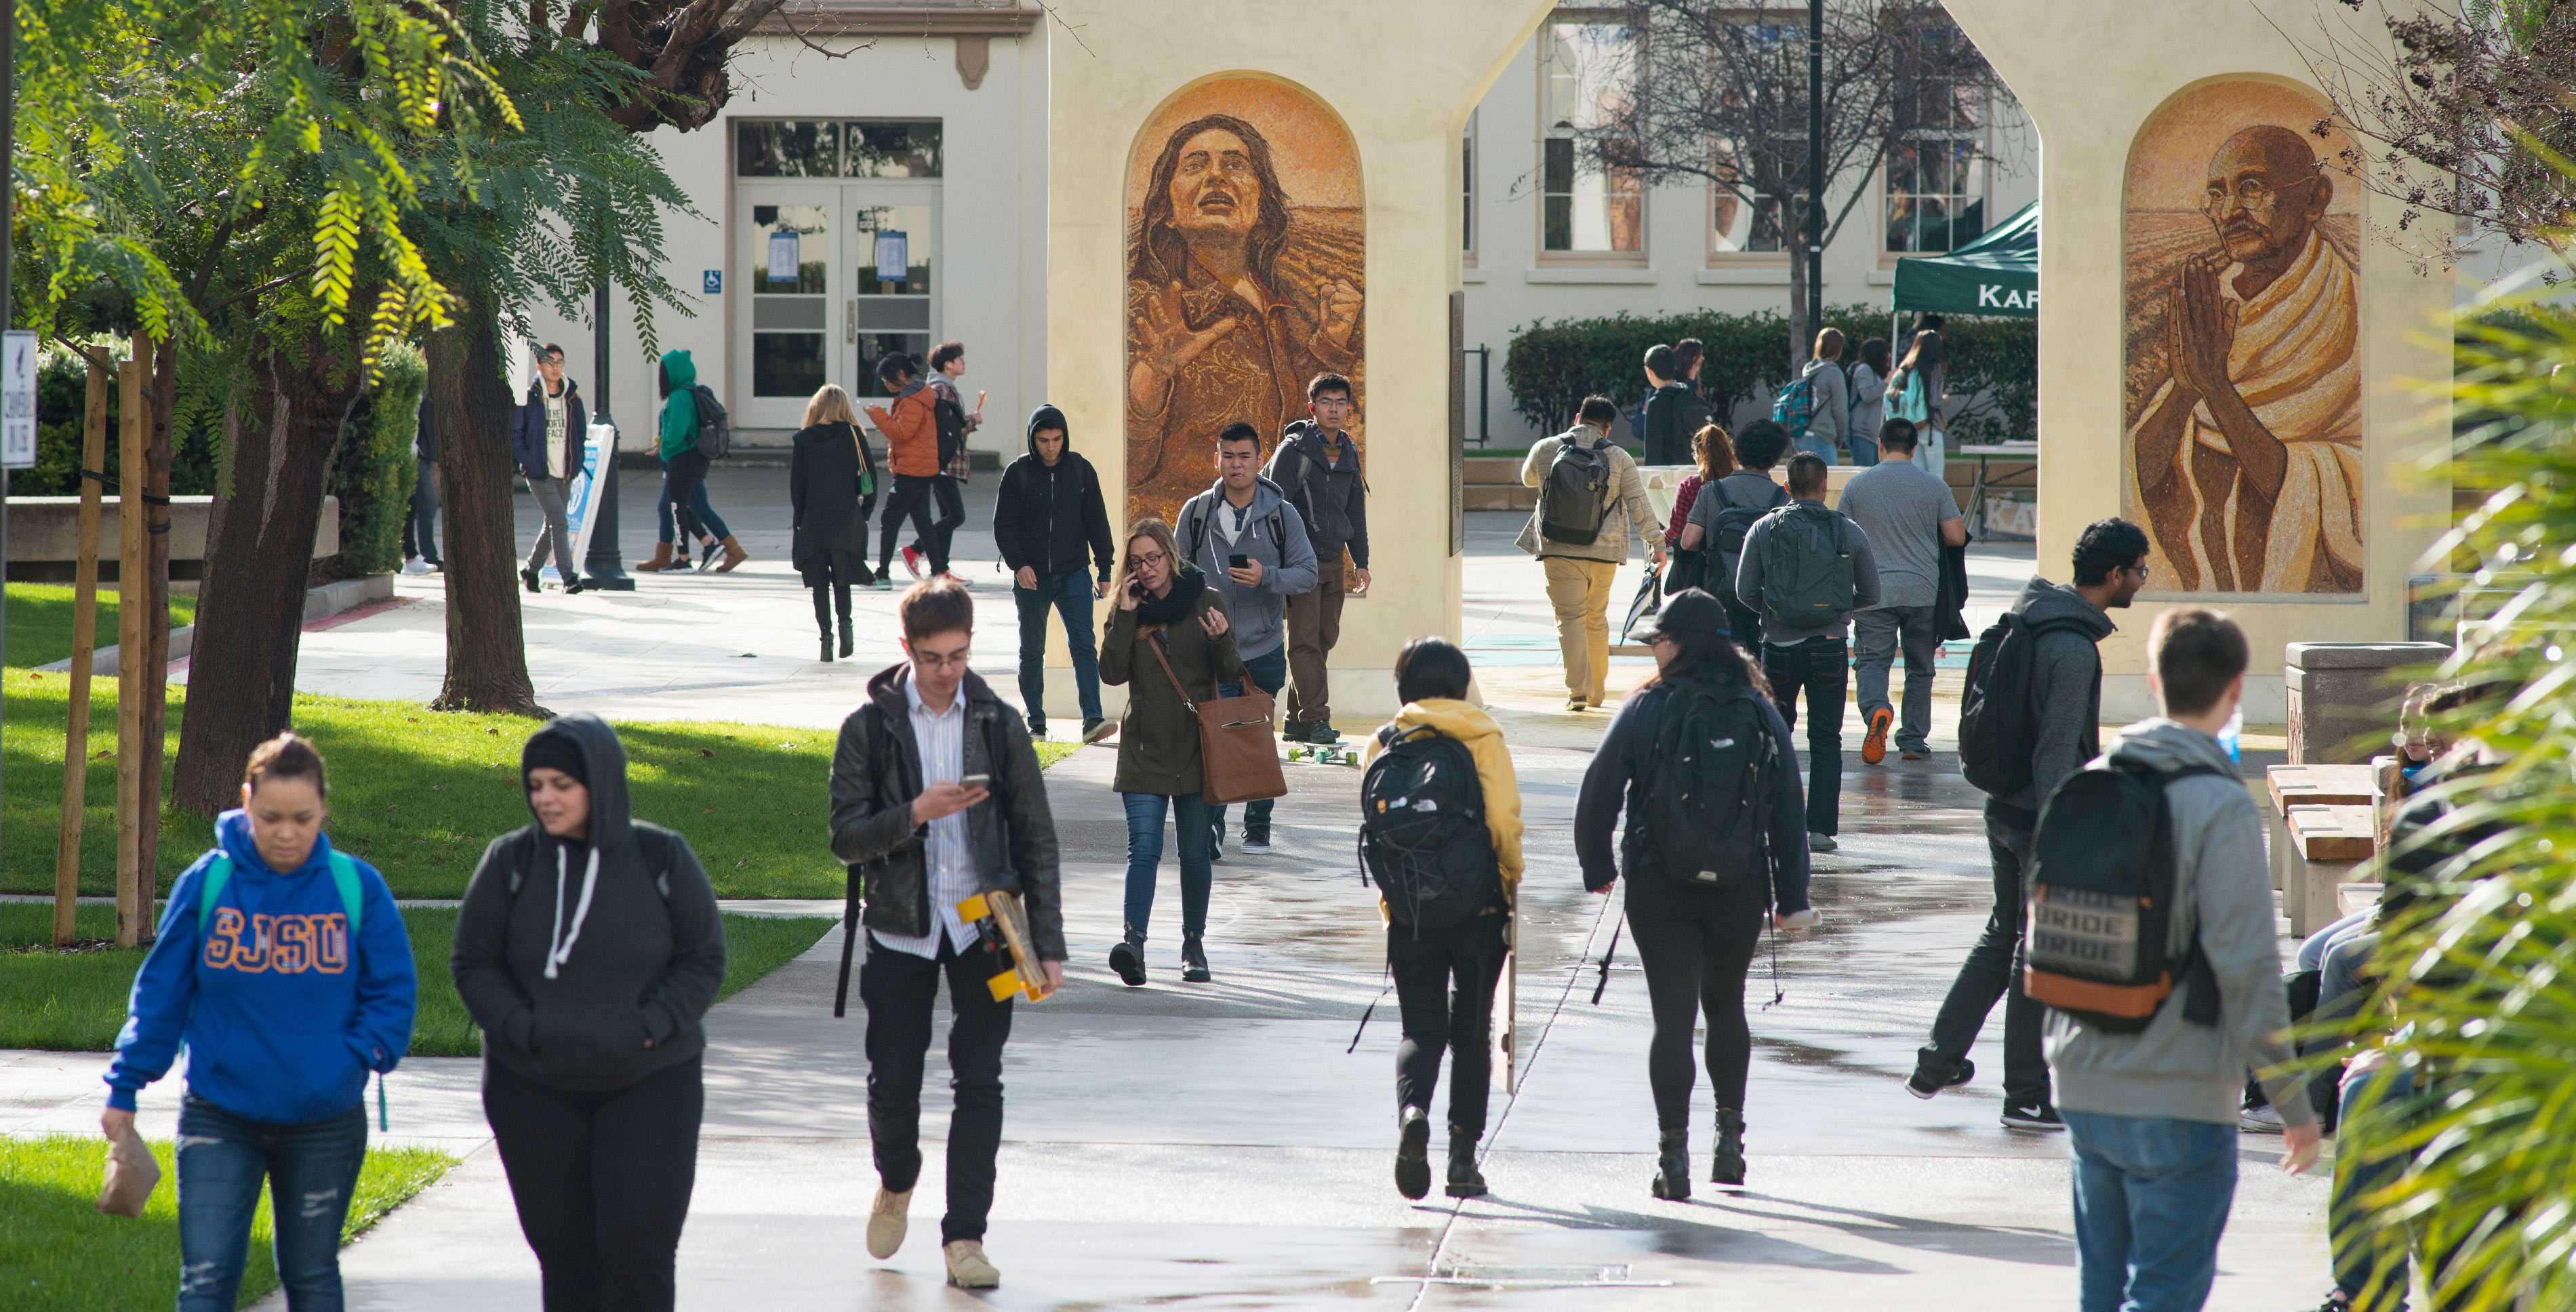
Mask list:
[{"label": "black backpack on dark-capped person walking away, right of yellow jacket", "polygon": [[1680,887],[1767,887],[1780,748],[1762,693],[1700,680],[1667,688],[1643,804],[1656,866]]}]

